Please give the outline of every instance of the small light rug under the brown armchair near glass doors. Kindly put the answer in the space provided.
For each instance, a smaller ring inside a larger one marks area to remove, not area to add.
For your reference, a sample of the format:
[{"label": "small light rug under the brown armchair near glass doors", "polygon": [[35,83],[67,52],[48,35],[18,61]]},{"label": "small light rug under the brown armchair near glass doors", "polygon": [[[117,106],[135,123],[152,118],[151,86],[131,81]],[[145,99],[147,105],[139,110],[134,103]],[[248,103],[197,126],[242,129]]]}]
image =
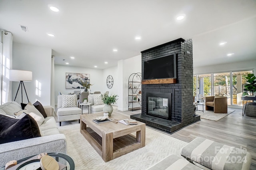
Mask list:
[{"label": "small light rug under the brown armchair near glass doors", "polygon": [[196,114],[200,115],[200,118],[202,118],[202,119],[218,121],[218,120],[224,118],[225,116],[228,116],[230,113],[232,113],[234,111],[235,110],[228,108],[228,113],[214,113],[213,111],[204,110],[204,112],[196,111]]}]

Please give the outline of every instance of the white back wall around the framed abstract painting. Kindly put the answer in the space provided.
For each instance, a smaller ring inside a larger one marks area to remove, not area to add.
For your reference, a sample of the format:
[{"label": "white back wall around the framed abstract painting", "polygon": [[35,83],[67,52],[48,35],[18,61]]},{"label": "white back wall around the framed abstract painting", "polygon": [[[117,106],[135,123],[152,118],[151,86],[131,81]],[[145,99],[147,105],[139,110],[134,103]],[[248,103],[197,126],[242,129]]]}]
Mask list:
[{"label": "white back wall around the framed abstract painting", "polygon": [[[62,94],[67,94],[74,92],[74,90],[80,90],[80,89],[66,89],[66,72],[70,73],[85,73],[90,74],[90,84],[93,84],[90,86],[89,92],[94,91],[100,91],[100,92],[106,92],[106,79],[103,76],[103,70],[102,69],[95,69],[95,68],[84,68],[84,67],[76,67],[76,66],[62,66],[62,65],[54,65],[54,77],[55,77],[55,104],[57,104],[58,99],[58,92],[61,92]],[[81,92],[84,89],[81,89]],[[109,91],[109,90],[108,90]]]}]

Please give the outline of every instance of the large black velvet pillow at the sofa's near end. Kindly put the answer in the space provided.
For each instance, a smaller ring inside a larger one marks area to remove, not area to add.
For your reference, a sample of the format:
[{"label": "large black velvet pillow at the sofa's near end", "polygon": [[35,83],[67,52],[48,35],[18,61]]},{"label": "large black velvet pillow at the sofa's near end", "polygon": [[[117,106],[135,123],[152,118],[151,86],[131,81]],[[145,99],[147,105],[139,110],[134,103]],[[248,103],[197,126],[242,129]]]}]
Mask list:
[{"label": "large black velvet pillow at the sofa's near end", "polygon": [[38,124],[29,114],[21,119],[0,114],[0,144],[40,136]]}]

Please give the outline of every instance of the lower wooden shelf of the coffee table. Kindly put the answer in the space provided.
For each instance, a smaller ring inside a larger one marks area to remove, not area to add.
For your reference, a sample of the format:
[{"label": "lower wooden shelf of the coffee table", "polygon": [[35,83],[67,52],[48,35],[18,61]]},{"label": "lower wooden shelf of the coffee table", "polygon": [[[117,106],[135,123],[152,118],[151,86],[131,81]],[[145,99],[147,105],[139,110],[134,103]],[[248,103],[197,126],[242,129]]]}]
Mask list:
[{"label": "lower wooden shelf of the coffee table", "polygon": [[[92,145],[96,152],[104,160],[104,153],[102,153],[102,137],[94,132],[90,127],[81,130],[81,134]],[[132,152],[138,148],[141,148],[141,143],[136,141],[136,136],[127,134],[113,139],[113,157],[104,160],[108,162],[112,159],[118,158],[124,154]],[[111,153],[110,153],[111,154]]]}]

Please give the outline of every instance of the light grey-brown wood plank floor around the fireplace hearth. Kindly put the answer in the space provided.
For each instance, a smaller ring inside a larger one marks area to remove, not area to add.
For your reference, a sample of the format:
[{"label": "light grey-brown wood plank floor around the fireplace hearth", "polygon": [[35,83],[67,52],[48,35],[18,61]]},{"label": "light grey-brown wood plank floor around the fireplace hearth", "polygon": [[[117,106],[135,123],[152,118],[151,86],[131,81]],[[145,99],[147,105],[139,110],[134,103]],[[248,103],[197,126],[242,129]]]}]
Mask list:
[{"label": "light grey-brown wood plank floor around the fireplace hearth", "polygon": [[[191,142],[196,137],[204,137],[229,146],[238,148],[242,146],[242,148],[246,148],[252,154],[250,170],[256,170],[256,117],[242,116],[242,109],[235,110],[235,112],[217,122],[201,119],[199,122],[167,135],[185,142]],[[132,115],[138,114],[141,111],[118,112]]]}]

